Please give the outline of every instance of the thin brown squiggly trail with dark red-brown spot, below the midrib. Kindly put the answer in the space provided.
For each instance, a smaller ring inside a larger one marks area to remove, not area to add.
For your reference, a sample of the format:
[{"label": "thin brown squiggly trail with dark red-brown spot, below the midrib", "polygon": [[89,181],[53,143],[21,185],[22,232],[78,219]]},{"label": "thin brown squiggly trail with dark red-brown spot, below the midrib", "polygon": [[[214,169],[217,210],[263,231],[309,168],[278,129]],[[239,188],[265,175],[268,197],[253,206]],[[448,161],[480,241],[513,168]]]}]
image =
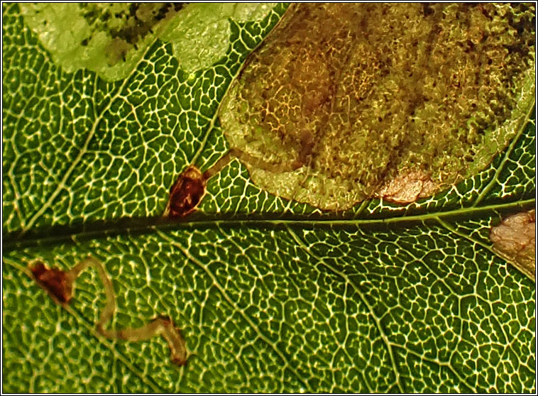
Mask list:
[{"label": "thin brown squiggly trail with dark red-brown spot, below the midrib", "polygon": [[31,273],[51,297],[62,307],[69,304],[72,296],[75,295],[75,280],[88,267],[94,267],[99,273],[101,282],[103,282],[104,292],[106,295],[106,305],[101,311],[99,321],[97,322],[97,331],[107,339],[116,339],[124,341],[146,341],[154,336],[163,336],[170,347],[170,361],[177,365],[187,364],[187,347],[185,340],[180,334],[172,319],[168,316],[160,316],[150,323],[136,329],[127,328],[122,330],[105,329],[105,325],[111,321],[116,311],[116,295],[114,287],[106,270],[99,260],[92,257],[84,258],[77,265],[67,271],[57,268],[48,268],[43,262],[35,261],[29,265]]}]

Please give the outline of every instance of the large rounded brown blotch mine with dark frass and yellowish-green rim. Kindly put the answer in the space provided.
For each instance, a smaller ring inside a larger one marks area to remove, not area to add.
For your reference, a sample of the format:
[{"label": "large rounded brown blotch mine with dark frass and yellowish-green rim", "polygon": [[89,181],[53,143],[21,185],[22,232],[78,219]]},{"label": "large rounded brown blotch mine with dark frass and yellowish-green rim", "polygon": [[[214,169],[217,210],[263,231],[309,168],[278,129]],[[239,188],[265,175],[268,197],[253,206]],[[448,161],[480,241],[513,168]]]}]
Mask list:
[{"label": "large rounded brown blotch mine with dark frass and yellowish-green rim", "polygon": [[533,21],[529,4],[294,4],[246,60],[221,126],[273,194],[412,202],[514,136],[500,126],[534,84]]}]

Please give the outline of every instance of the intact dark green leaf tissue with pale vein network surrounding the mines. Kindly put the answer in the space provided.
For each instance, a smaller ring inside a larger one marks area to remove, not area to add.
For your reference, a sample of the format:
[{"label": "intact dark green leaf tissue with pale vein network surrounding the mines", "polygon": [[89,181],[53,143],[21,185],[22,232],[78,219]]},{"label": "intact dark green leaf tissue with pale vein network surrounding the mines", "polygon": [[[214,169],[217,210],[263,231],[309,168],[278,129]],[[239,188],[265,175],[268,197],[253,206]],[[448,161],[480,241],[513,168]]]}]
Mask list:
[{"label": "intact dark green leaf tissue with pale vein network surrounding the mines", "polygon": [[[488,238],[534,207],[534,109],[485,170],[414,204],[326,214],[233,160],[199,213],[158,218],[187,165],[228,150],[221,99],[285,8],[222,11],[226,52],[207,44],[189,67],[168,21],[114,79],[69,70],[3,4],[4,392],[535,391],[535,284]],[[186,366],[163,339],[99,334],[93,270],[67,309],[28,275],[34,260],[67,270],[87,255],[113,282],[113,328],[169,315]]]}]

